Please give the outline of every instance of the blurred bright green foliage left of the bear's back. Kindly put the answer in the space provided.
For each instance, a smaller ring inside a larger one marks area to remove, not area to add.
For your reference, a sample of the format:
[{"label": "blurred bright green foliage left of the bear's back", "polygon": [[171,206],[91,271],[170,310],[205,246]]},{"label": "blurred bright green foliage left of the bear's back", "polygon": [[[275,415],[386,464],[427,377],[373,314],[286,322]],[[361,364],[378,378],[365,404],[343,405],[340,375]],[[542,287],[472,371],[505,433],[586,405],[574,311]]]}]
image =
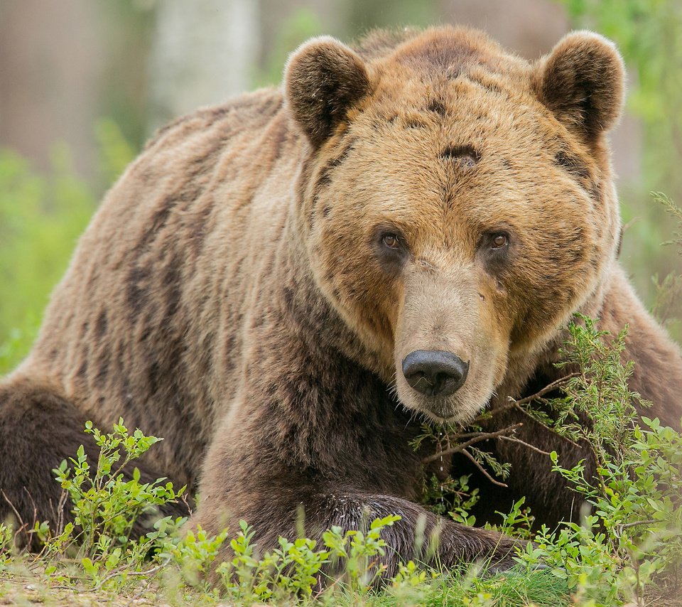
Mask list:
[{"label": "blurred bright green foliage left of the bear's back", "polygon": [[[111,121],[97,124],[97,138],[101,181],[108,186],[134,150]],[[64,273],[101,193],[77,176],[63,145],[53,149],[45,175],[0,149],[0,375],[28,352],[50,289]]]}]

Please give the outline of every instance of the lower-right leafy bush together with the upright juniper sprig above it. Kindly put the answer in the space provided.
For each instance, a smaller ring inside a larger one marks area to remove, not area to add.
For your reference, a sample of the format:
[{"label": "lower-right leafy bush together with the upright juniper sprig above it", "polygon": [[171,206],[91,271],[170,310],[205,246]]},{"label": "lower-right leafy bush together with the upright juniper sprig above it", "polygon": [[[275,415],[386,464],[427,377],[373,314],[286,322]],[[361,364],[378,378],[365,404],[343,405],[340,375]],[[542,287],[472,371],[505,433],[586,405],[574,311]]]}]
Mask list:
[{"label": "lower-right leafy bush together with the upright juniper sprig above it", "polygon": [[[551,458],[593,514],[558,530],[543,527],[521,560],[551,564],[581,601],[642,601],[680,564],[682,436],[658,419],[637,422],[633,402],[642,401],[627,387],[632,364],[620,362],[626,331],[607,343],[593,321],[582,321],[570,327],[565,363],[580,373],[565,385],[565,398],[554,401],[553,427],[590,446],[595,473],[584,461],[563,468],[556,453]],[[583,423],[571,421],[580,414]]]}]

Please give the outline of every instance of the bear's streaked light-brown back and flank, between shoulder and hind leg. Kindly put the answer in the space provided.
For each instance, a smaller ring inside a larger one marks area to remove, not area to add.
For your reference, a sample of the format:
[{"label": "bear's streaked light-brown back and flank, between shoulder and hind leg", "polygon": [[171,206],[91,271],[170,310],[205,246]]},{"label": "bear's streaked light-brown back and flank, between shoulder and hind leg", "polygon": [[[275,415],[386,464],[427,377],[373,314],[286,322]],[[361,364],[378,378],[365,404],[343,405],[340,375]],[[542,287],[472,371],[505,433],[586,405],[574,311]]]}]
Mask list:
[{"label": "bear's streaked light-brown back and flank, between shoulder and hind leg", "polygon": [[168,471],[191,478],[239,372],[249,277],[283,226],[300,139],[276,89],[158,131],[104,198],[14,375],[45,377],[99,424],[153,428],[174,446],[157,450],[164,465],[182,454]]}]

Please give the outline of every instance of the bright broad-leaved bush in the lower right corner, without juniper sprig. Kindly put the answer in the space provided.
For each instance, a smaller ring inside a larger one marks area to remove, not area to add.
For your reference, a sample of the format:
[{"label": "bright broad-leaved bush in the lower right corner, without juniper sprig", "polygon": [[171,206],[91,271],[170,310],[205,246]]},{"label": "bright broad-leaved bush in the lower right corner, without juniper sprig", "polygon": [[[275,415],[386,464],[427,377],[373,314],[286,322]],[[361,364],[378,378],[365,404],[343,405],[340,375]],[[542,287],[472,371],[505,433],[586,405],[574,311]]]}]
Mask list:
[{"label": "bright broad-leaved bush in the lower right corner, without juniper sprig", "polygon": [[581,600],[614,605],[665,596],[682,549],[682,439],[657,419],[632,428],[624,452],[607,453],[597,476],[583,463],[554,470],[585,496],[594,514],[559,530],[543,527],[522,561],[545,563]]}]

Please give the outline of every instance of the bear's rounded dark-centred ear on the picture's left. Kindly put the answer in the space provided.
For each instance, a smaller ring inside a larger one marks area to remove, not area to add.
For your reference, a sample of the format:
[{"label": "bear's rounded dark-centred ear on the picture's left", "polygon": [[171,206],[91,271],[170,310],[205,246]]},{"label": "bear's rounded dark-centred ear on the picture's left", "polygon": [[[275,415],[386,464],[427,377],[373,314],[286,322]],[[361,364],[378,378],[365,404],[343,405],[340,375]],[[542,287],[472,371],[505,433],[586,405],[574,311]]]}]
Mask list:
[{"label": "bear's rounded dark-centred ear on the picture's left", "polygon": [[330,36],[301,45],[286,64],[284,82],[293,117],[315,147],[370,90],[362,59]]}]

